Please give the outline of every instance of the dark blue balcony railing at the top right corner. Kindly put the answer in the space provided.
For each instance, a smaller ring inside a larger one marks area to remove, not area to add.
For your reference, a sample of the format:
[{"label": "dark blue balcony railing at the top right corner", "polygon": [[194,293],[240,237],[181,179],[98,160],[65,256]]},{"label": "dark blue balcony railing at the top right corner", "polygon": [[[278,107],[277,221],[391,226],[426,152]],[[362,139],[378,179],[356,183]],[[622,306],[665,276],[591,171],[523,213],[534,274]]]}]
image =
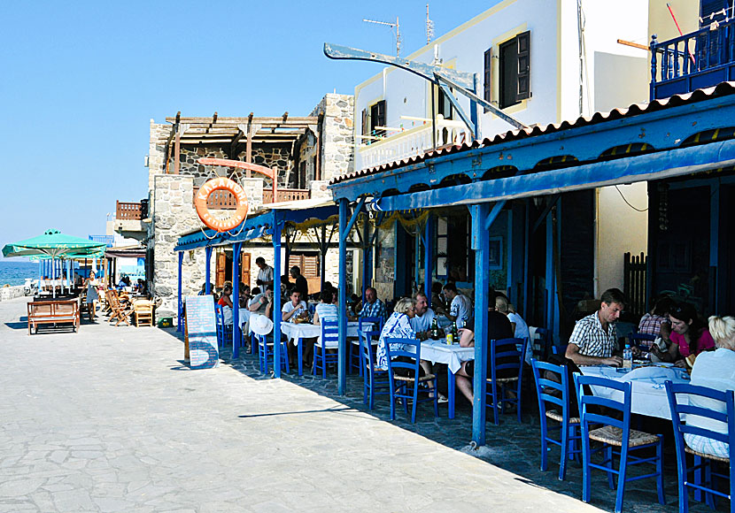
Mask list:
[{"label": "dark blue balcony railing at the top right corner", "polygon": [[735,19],[669,41],[651,40],[650,99],[735,80]]}]

